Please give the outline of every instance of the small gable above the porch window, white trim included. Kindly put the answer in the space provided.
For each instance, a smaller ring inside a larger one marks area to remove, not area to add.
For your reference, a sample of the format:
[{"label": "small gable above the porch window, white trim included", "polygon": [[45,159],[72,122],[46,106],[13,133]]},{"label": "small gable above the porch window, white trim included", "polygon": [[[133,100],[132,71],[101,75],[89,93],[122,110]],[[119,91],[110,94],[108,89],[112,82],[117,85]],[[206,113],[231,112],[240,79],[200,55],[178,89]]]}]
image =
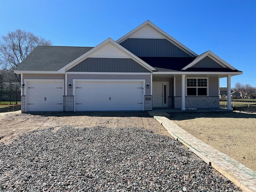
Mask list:
[{"label": "small gable above the porch window, white trim included", "polygon": [[[205,59],[206,58],[206,59]],[[208,59],[210,58],[210,59]],[[208,66],[208,68],[228,68],[231,70],[236,70],[236,68],[234,68],[233,66],[231,66],[230,64],[228,64],[226,61],[224,61],[222,58],[218,57],[216,54],[214,54],[211,51],[207,51],[199,56],[196,57],[196,59],[191,62],[190,64],[188,64],[186,67],[182,68],[182,70],[187,70],[188,68],[200,68],[200,65],[202,65],[203,63],[201,61],[207,61],[210,60],[212,61],[210,64],[210,66]],[[216,66],[216,67],[213,67]],[[207,67],[204,67],[207,68]]]}]

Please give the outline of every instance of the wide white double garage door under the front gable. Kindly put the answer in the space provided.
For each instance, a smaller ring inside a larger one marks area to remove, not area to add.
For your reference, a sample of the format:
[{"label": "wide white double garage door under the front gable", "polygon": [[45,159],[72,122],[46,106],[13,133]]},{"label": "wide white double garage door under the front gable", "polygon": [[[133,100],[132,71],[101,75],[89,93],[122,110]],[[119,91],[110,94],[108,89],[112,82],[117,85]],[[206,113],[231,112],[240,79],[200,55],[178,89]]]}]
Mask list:
[{"label": "wide white double garage door under the front gable", "polygon": [[76,111],[144,110],[143,82],[75,82]]}]

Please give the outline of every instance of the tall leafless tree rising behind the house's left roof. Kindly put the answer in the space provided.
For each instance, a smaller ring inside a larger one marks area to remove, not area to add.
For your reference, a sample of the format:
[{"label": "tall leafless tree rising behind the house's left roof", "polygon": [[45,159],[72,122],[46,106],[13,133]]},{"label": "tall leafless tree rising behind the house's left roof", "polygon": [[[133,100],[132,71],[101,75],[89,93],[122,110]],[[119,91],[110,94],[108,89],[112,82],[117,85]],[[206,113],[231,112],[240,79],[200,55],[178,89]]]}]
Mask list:
[{"label": "tall leafless tree rising behind the house's left roof", "polygon": [[[13,71],[38,45],[52,45],[52,42],[20,29],[8,32],[0,40],[0,68]],[[20,76],[16,78],[20,83]]]}]

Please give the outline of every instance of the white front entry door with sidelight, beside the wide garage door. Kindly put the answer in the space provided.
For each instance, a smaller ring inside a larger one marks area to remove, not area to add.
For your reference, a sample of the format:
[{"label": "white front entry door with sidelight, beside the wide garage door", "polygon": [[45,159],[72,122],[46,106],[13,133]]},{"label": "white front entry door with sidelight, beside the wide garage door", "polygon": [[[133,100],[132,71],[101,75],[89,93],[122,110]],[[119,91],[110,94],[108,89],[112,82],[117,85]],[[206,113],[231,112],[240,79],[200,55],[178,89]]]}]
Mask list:
[{"label": "white front entry door with sidelight, beside the wide garage door", "polygon": [[167,83],[153,83],[152,100],[153,107],[167,107]]}]

